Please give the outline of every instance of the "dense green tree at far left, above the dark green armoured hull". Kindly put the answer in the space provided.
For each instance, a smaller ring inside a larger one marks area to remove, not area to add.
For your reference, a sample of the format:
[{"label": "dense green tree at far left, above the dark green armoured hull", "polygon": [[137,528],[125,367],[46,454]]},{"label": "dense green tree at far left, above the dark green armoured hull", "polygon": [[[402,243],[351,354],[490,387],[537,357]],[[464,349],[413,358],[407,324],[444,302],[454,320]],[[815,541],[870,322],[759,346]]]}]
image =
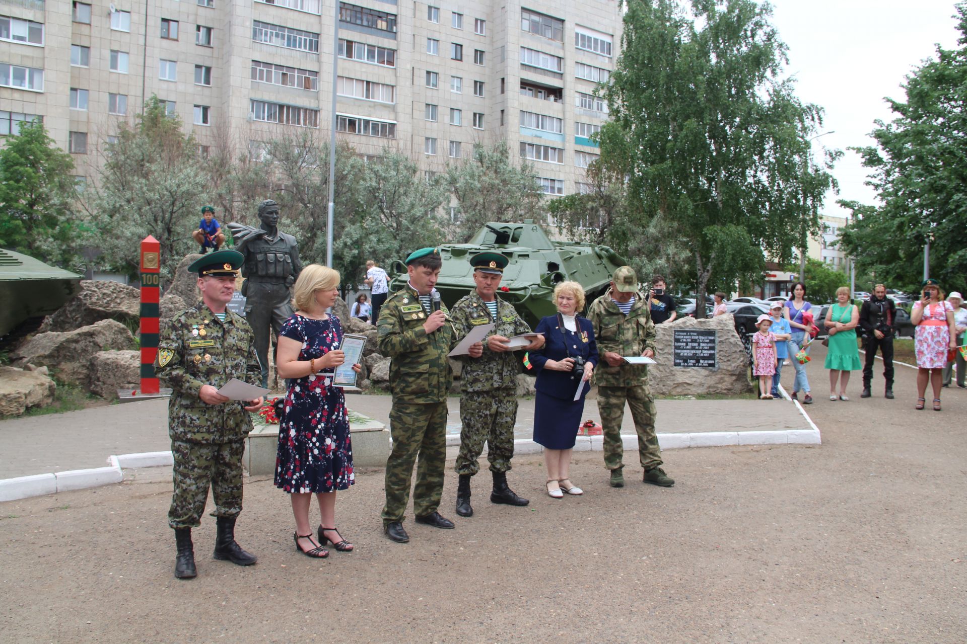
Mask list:
[{"label": "dense green tree at far left, above the dark green armoured hull", "polygon": [[44,262],[75,259],[73,160],[54,145],[44,124],[22,123],[0,150],[0,247]]}]

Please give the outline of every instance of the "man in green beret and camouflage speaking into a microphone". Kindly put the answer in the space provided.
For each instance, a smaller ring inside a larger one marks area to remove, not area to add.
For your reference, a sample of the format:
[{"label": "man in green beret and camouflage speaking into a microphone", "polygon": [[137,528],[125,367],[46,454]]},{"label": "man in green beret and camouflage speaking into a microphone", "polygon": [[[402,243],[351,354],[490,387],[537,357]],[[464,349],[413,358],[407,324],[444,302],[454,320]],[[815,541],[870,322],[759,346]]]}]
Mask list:
[{"label": "man in green beret and camouflage speaking into a microphone", "polygon": [[447,462],[447,395],[454,376],[447,353],[454,329],[447,307],[433,289],[442,262],[436,248],[421,248],[406,258],[409,282],[387,298],[379,314],[377,346],[390,363],[390,433],[393,452],[386,462],[383,530],[397,544],[410,540],[403,516],[410,497],[413,463],[417,482],[413,512],[418,523],[453,528],[437,512]]}]

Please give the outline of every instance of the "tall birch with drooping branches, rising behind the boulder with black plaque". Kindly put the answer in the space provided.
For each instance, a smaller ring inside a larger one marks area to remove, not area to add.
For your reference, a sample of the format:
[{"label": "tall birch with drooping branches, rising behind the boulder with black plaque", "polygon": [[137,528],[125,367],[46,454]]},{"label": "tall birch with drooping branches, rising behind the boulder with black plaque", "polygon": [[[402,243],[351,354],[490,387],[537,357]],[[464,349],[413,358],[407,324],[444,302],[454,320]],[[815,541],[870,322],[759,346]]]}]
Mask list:
[{"label": "tall birch with drooping branches, rising behind the boulder with black plaque", "polygon": [[780,77],[786,47],[769,5],[692,0],[689,9],[628,5],[621,58],[602,90],[611,121],[601,156],[627,174],[639,228],[659,216],[689,249],[701,300],[710,280],[757,279],[766,255],[787,262],[806,245],[838,153],[813,159],[822,110]]}]

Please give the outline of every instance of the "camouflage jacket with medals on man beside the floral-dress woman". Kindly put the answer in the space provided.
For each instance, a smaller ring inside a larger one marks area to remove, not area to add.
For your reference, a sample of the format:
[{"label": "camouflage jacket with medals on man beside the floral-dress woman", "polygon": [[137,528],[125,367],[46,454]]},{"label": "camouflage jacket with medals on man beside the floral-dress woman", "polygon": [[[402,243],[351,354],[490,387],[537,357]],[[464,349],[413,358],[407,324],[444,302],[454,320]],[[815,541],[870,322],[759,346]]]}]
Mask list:
[{"label": "camouflage jacket with medals on man beside the floral-dress woman", "polygon": [[257,383],[261,368],[255,338],[245,319],[231,311],[225,322],[198,302],[161,329],[155,373],[171,387],[168,435],[187,442],[229,442],[251,431],[241,401],[208,405],[198,398],[204,384],[219,388],[231,378]]}]

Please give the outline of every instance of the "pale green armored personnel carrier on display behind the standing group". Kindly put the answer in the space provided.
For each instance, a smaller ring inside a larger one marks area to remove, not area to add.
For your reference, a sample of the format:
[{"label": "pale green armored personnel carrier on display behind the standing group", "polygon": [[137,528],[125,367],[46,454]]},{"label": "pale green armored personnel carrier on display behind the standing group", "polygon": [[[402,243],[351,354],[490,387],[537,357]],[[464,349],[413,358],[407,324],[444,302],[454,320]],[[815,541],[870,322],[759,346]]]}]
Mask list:
[{"label": "pale green armored personnel carrier on display behind the standing group", "polygon": [[[590,304],[607,289],[614,269],[628,264],[607,246],[551,241],[533,219],[490,222],[467,243],[440,246],[443,267],[436,288],[447,306],[475,288],[470,258],[484,250],[503,253],[510,260],[500,283],[500,296],[513,304],[531,328],[557,311],[551,294],[559,282],[579,283]],[[391,268],[394,276],[390,289],[398,291],[407,281],[406,266],[396,260]]]}]

